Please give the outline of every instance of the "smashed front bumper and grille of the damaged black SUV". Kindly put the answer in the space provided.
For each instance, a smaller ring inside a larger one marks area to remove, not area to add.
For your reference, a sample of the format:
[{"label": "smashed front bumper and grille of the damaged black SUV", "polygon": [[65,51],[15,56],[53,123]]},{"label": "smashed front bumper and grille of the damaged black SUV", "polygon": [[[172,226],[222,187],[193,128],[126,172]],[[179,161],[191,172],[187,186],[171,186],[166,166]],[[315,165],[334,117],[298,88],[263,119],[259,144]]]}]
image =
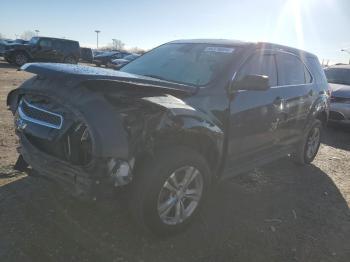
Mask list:
[{"label": "smashed front bumper and grille of the damaged black SUV", "polygon": [[[18,150],[25,162],[79,194],[96,196],[97,191],[105,191],[104,185],[120,186],[131,181],[134,160],[129,158],[127,134],[112,123],[116,122],[113,119],[103,119],[102,107],[94,107],[92,113],[78,106],[81,111],[77,111],[69,101],[62,103],[51,92],[33,91],[20,88],[9,97],[20,139]],[[95,125],[113,129],[118,135],[105,132],[109,137],[103,136]],[[103,146],[108,139],[108,144],[118,150]]]}]

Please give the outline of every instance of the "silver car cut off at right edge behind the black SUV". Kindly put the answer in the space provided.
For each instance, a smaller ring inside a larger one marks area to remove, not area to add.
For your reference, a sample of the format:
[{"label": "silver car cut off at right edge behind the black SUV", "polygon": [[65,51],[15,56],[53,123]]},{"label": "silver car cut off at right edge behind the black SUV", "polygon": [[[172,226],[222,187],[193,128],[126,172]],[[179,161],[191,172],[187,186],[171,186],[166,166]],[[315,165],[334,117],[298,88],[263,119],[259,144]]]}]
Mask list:
[{"label": "silver car cut off at right edge behind the black SUV", "polygon": [[325,70],[331,86],[329,120],[350,124],[350,65],[336,65]]}]

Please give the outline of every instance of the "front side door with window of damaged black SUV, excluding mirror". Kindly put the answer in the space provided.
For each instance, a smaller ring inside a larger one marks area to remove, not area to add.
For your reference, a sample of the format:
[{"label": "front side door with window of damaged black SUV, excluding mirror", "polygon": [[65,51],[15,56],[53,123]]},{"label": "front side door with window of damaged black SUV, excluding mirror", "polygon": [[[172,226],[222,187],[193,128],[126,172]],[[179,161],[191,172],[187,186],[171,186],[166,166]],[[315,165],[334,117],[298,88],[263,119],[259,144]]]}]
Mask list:
[{"label": "front side door with window of damaged black SUV, excluding mirror", "polygon": [[266,155],[277,148],[279,108],[283,102],[277,87],[276,54],[259,51],[238,70],[235,80],[246,75],[266,75],[265,91],[238,91],[230,104],[228,167]]}]

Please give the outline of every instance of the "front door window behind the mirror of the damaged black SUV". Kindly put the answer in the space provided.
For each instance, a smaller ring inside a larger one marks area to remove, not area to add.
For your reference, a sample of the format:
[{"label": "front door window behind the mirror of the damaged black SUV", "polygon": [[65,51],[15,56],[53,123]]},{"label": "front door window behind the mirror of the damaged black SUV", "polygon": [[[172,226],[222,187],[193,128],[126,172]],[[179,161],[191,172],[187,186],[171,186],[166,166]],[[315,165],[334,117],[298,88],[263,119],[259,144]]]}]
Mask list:
[{"label": "front door window behind the mirror of the damaged black SUV", "polygon": [[246,75],[265,75],[269,77],[270,86],[277,85],[277,70],[275,55],[255,54],[248,59],[238,72],[237,79],[241,80]]}]

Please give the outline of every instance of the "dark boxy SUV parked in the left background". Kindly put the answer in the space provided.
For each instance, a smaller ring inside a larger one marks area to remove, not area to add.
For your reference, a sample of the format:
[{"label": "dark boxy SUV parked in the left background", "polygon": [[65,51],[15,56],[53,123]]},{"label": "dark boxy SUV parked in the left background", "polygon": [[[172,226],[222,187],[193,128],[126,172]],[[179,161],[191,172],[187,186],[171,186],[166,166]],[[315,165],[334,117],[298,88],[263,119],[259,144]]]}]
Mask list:
[{"label": "dark boxy SUV parked in the left background", "polygon": [[4,57],[18,66],[37,61],[76,64],[80,57],[80,47],[79,42],[73,40],[33,37],[28,44],[7,45]]}]

